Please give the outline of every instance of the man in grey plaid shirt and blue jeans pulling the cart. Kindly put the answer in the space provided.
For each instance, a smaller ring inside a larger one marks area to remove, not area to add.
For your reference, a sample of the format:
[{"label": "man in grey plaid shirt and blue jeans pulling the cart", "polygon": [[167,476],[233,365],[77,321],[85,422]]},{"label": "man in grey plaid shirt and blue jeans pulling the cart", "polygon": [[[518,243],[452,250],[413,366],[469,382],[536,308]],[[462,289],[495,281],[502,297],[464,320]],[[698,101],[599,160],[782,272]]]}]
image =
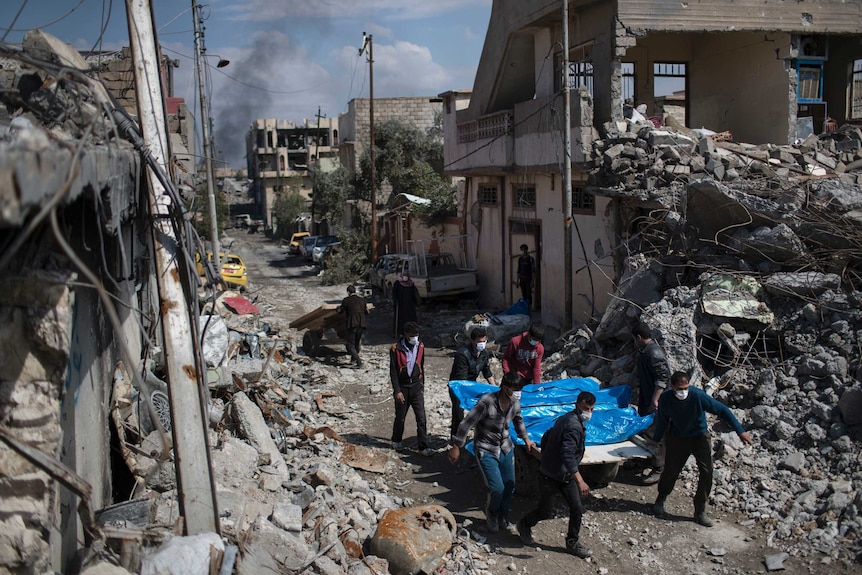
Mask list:
[{"label": "man in grey plaid shirt and blue jeans pulling the cart", "polygon": [[524,440],[527,451],[534,452],[536,444],[527,436],[524,418],[521,417],[521,388],[524,378],[514,371],[500,381],[500,391],[487,393],[473,406],[452,436],[449,462],[455,463],[461,456],[461,448],[467,443],[467,434],[476,428],[473,449],[479,460],[479,471],[488,487],[485,518],[488,531],[497,533],[501,528],[512,531],[509,523],[509,507],[515,493],[515,446],[509,437],[509,424],[515,424],[518,437]]}]

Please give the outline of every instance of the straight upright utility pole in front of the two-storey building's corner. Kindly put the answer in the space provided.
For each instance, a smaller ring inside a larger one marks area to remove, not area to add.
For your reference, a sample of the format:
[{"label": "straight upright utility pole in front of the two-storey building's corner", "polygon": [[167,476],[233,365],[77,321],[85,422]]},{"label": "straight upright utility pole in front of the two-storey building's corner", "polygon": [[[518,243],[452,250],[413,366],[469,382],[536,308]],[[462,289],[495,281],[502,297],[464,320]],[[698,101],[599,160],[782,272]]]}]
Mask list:
[{"label": "straight upright utility pole in front of the two-storey building's corner", "polygon": [[563,275],[565,330],[572,328],[572,97],[569,86],[569,0],[563,0]]}]

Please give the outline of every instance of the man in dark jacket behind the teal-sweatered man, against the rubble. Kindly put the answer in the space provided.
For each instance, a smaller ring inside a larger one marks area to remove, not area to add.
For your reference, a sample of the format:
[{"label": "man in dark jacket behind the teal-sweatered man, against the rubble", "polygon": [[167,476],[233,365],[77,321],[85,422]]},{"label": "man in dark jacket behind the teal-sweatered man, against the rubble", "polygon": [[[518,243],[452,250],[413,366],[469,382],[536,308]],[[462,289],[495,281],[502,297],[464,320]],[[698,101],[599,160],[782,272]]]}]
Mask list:
[{"label": "man in dark jacket behind the teal-sweatered man, against the rubble", "polygon": [[[635,346],[638,349],[636,365],[639,384],[638,415],[643,417],[655,413],[658,407],[658,398],[667,389],[670,368],[664,350],[653,340],[652,330],[647,324],[639,323],[632,330],[632,335],[634,335]],[[643,478],[644,485],[658,483],[663,467],[664,450],[661,445],[658,445],[653,458],[652,472]]]}]

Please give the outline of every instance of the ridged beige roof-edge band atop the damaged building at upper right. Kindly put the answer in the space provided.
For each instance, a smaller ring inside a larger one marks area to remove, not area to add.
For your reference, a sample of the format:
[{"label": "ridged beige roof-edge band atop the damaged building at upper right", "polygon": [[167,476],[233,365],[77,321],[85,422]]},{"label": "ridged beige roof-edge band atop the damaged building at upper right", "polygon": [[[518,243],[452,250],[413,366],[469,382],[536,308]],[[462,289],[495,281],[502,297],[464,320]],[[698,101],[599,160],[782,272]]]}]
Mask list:
[{"label": "ridged beige roof-edge band atop the damaged building at upper right", "polygon": [[618,0],[629,29],[862,34],[860,0]]}]

